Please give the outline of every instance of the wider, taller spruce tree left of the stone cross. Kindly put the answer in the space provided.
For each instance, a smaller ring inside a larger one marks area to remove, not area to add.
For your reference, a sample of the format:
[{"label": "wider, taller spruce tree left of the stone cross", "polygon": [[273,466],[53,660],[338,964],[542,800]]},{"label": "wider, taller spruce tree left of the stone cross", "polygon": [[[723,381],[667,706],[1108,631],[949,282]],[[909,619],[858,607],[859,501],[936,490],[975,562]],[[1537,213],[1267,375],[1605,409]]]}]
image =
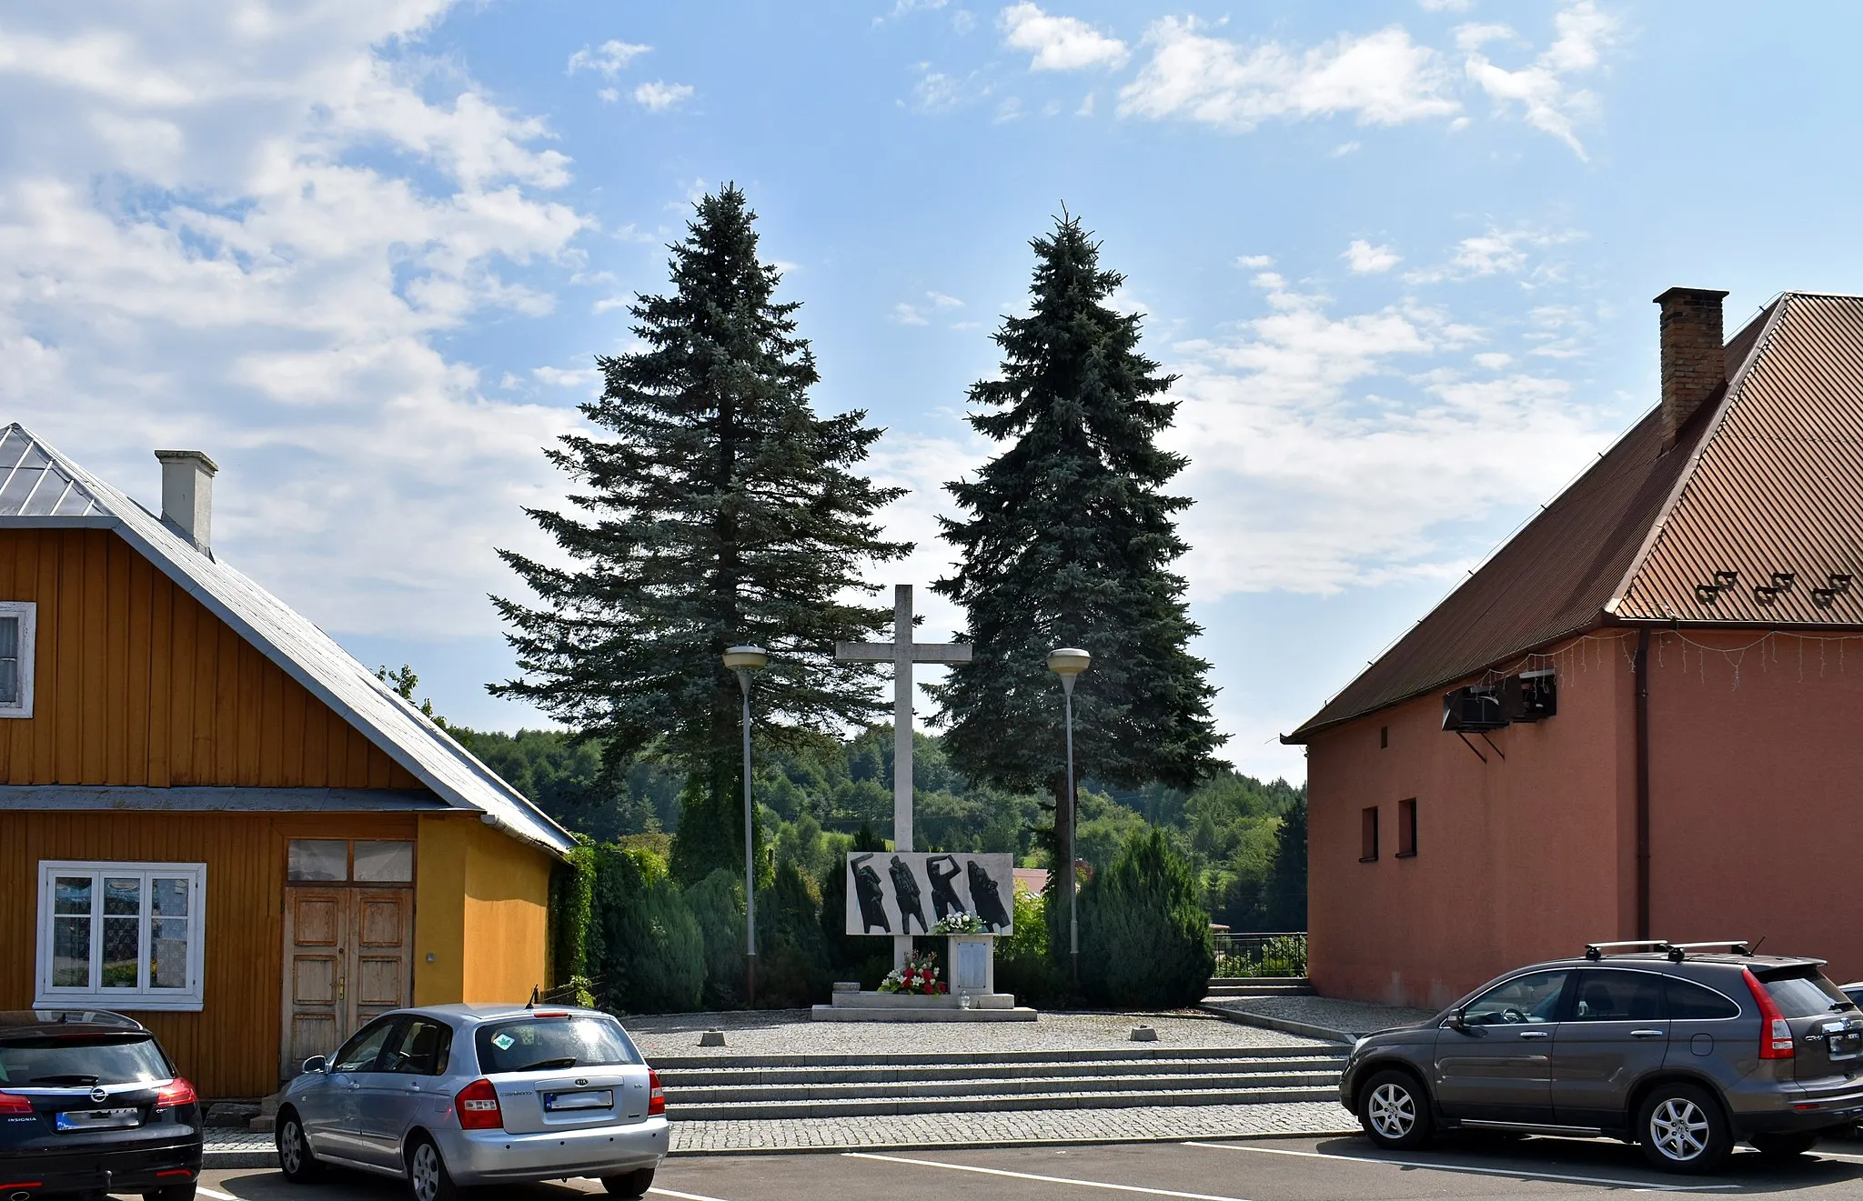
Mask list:
[{"label": "wider, taller spruce tree left of the stone cross", "polygon": [[836,641],[885,627],[861,570],[909,544],[874,512],[902,495],[855,471],[879,430],[864,412],[816,417],[816,363],[796,302],[756,257],[756,216],[725,186],[671,246],[673,292],[630,307],[643,348],[598,356],[607,380],[581,406],[605,436],[568,434],[550,462],[578,512],[531,518],[572,568],[499,551],[540,607],[494,598],[522,678],[492,685],[598,739],[604,775],[641,754],[686,771],[673,871],[684,883],[743,866],[740,693],[719,655],[755,642],[758,745],[872,721],[870,672]]}]

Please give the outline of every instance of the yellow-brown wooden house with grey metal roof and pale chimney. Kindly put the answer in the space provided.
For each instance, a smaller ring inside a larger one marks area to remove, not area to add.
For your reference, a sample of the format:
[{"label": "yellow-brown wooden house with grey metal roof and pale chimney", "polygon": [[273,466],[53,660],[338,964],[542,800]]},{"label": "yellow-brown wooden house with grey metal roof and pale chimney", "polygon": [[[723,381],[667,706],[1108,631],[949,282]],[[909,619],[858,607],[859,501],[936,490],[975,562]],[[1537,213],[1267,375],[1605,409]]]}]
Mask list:
[{"label": "yellow-brown wooden house with grey metal roof and pale chimney", "polygon": [[546,981],[570,836],[162,512],[0,434],[0,1009],[106,1007],[209,1097],[384,1009]]}]

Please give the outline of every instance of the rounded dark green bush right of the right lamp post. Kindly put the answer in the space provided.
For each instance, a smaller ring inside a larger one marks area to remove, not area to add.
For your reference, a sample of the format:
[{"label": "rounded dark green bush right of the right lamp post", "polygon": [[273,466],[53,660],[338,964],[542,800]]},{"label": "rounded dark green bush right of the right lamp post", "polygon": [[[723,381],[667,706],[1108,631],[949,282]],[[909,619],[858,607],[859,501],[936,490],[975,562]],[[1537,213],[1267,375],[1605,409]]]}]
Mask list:
[{"label": "rounded dark green bush right of the right lamp post", "polygon": [[1209,912],[1164,832],[1135,832],[1081,890],[1081,987],[1107,1005],[1192,1005],[1217,965]]}]

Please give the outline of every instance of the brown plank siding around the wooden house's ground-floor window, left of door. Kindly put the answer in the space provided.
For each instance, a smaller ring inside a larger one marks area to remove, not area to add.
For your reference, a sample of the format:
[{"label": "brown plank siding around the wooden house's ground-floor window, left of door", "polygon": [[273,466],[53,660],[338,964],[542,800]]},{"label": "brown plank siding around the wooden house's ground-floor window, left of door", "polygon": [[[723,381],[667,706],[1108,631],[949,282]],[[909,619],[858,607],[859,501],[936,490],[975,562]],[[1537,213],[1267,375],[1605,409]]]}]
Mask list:
[{"label": "brown plank siding around the wooden house's ground-floor window, left of door", "polygon": [[34,998],[39,860],[205,862],[205,1005],[132,1011],[207,1097],[278,1087],[285,847],[415,838],[414,814],[0,812],[0,1009]]}]

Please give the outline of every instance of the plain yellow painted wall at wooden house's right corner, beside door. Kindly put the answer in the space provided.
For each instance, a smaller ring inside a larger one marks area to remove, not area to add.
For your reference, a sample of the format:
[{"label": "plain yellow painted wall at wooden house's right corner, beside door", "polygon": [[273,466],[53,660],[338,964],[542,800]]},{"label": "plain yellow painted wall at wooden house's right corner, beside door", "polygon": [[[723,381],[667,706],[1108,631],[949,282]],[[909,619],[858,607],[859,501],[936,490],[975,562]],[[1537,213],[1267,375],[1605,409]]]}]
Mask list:
[{"label": "plain yellow painted wall at wooden house's right corner, beside door", "polygon": [[[550,983],[546,851],[479,821],[421,817],[414,1004],[525,1002]],[[432,961],[428,961],[432,955]]]}]

